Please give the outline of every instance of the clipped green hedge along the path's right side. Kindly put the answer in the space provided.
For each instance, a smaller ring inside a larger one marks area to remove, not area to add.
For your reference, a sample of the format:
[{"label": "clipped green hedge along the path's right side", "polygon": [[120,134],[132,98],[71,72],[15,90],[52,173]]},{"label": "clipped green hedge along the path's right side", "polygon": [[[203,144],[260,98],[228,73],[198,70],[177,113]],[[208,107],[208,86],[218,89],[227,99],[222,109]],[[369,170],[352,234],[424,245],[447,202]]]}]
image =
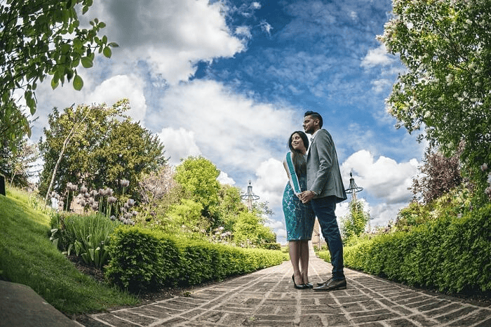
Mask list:
[{"label": "clipped green hedge along the path's right side", "polygon": [[345,247],[344,265],[440,291],[490,291],[491,205]]}]

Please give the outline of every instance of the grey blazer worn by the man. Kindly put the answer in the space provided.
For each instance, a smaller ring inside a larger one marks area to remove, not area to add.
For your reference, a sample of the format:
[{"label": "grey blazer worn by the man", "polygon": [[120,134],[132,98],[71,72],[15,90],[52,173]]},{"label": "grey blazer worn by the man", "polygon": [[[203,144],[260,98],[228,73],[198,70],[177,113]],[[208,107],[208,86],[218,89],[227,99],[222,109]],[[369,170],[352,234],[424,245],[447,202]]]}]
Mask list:
[{"label": "grey blazer worn by the man", "polygon": [[325,129],[314,135],[307,156],[307,189],[316,192],[314,199],[336,196],[336,203],[347,199],[331,135]]}]

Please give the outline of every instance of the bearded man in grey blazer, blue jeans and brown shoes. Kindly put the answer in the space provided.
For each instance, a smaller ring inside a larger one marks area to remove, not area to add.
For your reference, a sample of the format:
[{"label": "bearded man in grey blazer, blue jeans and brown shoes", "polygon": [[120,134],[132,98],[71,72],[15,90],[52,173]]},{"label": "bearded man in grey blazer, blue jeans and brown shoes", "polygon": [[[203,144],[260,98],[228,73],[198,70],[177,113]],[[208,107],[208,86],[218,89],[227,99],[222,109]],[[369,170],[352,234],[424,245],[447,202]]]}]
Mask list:
[{"label": "bearded man in grey blazer, blue jeans and brown shoes", "polygon": [[314,291],[346,288],[343,272],[343,245],[335,215],[336,203],[347,199],[339,172],[339,163],[331,135],[322,128],[322,116],[317,112],[304,114],[304,131],[311,134],[307,154],[307,191],[300,194],[302,202],[310,201],[321,225],[322,234],[331,255],[332,277],[318,283]]}]

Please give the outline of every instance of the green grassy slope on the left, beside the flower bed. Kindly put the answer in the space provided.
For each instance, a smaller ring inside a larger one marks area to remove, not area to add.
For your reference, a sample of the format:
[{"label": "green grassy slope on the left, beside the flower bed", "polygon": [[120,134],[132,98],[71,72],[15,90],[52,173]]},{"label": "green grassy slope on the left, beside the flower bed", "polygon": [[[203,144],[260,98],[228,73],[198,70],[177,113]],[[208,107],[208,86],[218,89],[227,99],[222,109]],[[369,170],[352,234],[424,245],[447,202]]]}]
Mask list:
[{"label": "green grassy slope on the left, beside the flower bed", "polygon": [[30,208],[27,198],[15,189],[0,195],[0,279],[30,286],[65,314],[137,303],[81,274],[53,247],[48,216]]}]

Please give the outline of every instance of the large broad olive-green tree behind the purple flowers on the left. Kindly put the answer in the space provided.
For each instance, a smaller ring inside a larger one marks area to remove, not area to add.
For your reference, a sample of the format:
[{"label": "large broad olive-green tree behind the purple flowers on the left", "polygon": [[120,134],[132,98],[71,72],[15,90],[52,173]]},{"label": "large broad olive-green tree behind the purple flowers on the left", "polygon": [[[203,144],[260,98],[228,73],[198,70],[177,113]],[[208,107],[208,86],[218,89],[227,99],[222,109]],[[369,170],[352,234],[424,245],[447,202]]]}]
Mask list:
[{"label": "large broad olive-green tree behind the purple flowers on the left", "polygon": [[53,185],[58,194],[72,182],[92,189],[111,187],[121,195],[119,180],[124,179],[129,180],[125,196],[137,196],[140,175],[158,171],[166,159],[157,137],[124,116],[128,109],[128,100],[112,107],[69,107],[61,114],[54,109],[48,116],[49,128],[44,129],[45,140],[39,145],[44,159],[40,192],[47,192],[59,161]]}]

